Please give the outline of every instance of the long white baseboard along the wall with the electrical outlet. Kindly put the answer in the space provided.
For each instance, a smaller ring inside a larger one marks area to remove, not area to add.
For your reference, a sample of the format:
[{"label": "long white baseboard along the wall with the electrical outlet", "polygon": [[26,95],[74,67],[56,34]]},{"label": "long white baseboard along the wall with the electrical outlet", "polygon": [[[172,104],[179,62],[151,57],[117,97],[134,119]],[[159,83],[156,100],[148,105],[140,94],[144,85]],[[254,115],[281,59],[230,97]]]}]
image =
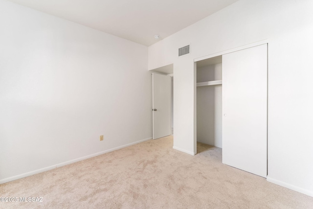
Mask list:
[{"label": "long white baseboard along the wall with the electrical outlet", "polygon": [[12,177],[9,177],[9,178],[6,178],[6,179],[1,179],[0,180],[0,184],[11,182],[11,181],[14,181],[14,180],[17,180],[17,179],[22,179],[24,177],[31,176],[31,175],[34,175],[34,174],[37,174],[37,173],[42,173],[42,172],[45,172],[47,170],[51,170],[51,169],[54,169],[54,168],[57,168],[57,167],[62,167],[62,166],[67,165],[67,164],[76,163],[76,162],[79,162],[79,161],[82,161],[82,160],[86,160],[88,158],[92,158],[92,157],[95,157],[95,156],[98,156],[98,155],[102,155],[102,154],[105,154],[105,153],[108,153],[108,152],[112,152],[114,150],[122,149],[124,147],[128,147],[128,146],[131,146],[131,145],[143,142],[143,141],[147,141],[147,140],[150,140],[150,139],[152,139],[152,137],[151,138],[147,138],[147,139],[143,139],[143,140],[139,140],[139,141],[135,141],[135,142],[132,142],[132,143],[129,143],[129,144],[125,144],[125,145],[122,145],[122,146],[114,147],[112,149],[108,149],[108,150],[105,150],[105,151],[102,151],[102,152],[97,152],[97,153],[94,153],[94,154],[91,154],[91,155],[87,155],[87,156],[84,156],[84,157],[81,157],[81,158],[76,158],[74,160],[67,161],[67,162],[64,162],[64,163],[58,163],[58,164],[51,165],[51,166],[48,166],[48,167],[44,167],[44,168],[41,168],[41,169],[38,169],[38,170],[34,170],[34,171],[30,171],[30,172],[23,173],[23,174],[20,174],[20,175],[12,176]]}]

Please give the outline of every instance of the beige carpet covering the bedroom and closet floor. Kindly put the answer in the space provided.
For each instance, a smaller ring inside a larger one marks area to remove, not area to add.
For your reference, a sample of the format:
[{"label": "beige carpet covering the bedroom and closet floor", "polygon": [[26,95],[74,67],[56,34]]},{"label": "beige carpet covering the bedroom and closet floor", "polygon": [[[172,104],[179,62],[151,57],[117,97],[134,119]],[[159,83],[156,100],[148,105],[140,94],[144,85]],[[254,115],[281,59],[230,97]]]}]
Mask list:
[{"label": "beige carpet covering the bedroom and closet floor", "polygon": [[224,165],[222,149],[198,143],[196,156],[173,138],[124,149],[0,185],[1,209],[313,209],[313,197]]}]

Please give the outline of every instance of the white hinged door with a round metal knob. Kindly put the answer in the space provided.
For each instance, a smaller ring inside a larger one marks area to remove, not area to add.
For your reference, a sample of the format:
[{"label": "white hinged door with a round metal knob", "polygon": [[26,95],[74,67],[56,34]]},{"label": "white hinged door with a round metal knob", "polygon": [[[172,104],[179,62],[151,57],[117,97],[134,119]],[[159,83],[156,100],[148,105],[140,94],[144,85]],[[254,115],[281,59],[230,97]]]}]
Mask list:
[{"label": "white hinged door with a round metal knob", "polygon": [[153,139],[171,135],[171,77],[152,73]]}]

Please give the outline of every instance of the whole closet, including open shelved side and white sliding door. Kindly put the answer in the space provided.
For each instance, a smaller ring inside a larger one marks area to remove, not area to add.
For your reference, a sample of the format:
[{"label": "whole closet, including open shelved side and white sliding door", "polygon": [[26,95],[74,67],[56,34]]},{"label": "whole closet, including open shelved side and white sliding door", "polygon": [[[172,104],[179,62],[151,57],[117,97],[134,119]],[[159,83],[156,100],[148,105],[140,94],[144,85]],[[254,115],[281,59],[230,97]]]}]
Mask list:
[{"label": "whole closet, including open shelved side and white sliding door", "polygon": [[264,178],[268,136],[267,53],[268,45],[263,43],[232,49],[222,56],[196,61],[195,70],[197,142],[223,148],[222,163]]}]

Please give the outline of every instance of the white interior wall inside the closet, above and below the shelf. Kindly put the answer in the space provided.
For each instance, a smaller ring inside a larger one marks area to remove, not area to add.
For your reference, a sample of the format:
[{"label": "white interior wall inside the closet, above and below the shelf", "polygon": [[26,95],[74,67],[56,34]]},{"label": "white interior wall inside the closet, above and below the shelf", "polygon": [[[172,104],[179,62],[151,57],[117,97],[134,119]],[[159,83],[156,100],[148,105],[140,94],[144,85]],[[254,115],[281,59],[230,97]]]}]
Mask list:
[{"label": "white interior wall inside the closet, above and below the shelf", "polygon": [[[197,68],[197,83],[222,80],[222,63]],[[197,141],[222,148],[222,85],[197,87]]]}]

